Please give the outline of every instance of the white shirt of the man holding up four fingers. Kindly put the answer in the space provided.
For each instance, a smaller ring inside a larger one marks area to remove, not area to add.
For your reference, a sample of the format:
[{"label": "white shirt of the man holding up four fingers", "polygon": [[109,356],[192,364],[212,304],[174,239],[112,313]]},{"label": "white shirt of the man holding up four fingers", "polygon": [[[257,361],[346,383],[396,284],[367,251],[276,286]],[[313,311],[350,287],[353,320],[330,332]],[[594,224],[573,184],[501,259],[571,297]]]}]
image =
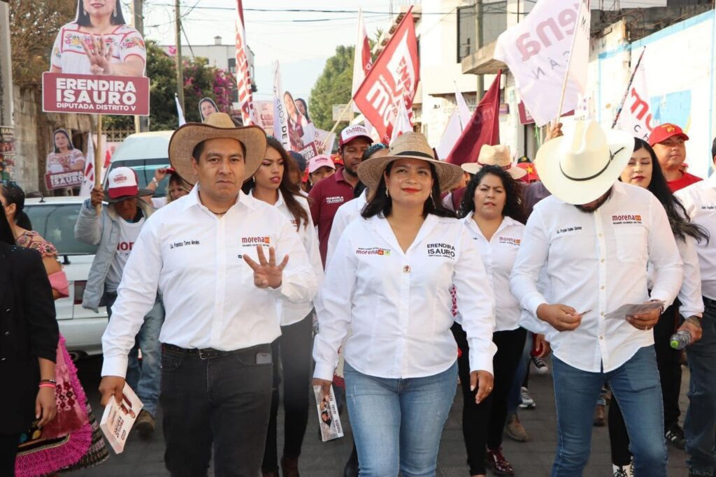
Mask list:
[{"label": "white shirt of the man holding up four fingers", "polygon": [[[253,270],[256,246],[289,255],[281,287],[260,289]],[[155,212],[142,228],[127,262],[112,320],[102,336],[102,375],[124,376],[127,354],[145,315],[163,294],[159,336],[181,348],[238,350],[281,335],[276,300],[301,303],[316,293],[316,275],[296,228],[275,207],[239,194],[222,217],[200,203],[198,186]]]}]

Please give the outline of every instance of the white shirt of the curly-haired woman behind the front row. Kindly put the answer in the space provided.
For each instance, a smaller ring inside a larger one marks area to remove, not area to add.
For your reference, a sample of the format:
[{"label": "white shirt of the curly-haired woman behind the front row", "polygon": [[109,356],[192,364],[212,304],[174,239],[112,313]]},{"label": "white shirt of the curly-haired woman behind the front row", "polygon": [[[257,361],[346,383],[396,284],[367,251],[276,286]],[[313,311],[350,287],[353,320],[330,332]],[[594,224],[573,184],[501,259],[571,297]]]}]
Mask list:
[{"label": "white shirt of the curly-haired woman behind the front row", "polygon": [[465,217],[463,223],[480,250],[480,257],[495,295],[495,331],[516,330],[520,327],[522,308],[510,290],[510,273],[525,226],[511,217],[504,217],[498,230],[487,240],[473,220],[472,214]]}]

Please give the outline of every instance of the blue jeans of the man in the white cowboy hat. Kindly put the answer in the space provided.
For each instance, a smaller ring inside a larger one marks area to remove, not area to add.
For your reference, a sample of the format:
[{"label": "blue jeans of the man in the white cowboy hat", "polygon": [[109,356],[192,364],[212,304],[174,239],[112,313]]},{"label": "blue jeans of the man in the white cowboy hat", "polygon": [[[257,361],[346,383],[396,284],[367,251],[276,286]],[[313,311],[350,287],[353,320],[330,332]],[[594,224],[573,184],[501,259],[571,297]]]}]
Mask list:
[{"label": "blue jeans of the man in the white cowboy hat", "polygon": [[627,425],[634,475],[665,477],[664,408],[657,356],[645,346],[609,373],[589,373],[552,357],[557,408],[557,454],[552,477],[578,477],[589,459],[594,403],[604,380],[619,403]]}]

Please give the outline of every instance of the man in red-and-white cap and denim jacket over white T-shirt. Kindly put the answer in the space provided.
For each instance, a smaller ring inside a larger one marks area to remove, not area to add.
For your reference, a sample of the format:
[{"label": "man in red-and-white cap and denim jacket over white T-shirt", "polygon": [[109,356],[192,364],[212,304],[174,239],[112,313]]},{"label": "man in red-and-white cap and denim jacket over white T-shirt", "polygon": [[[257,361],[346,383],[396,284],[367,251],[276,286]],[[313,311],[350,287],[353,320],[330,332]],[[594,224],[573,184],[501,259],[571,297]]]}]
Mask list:
[{"label": "man in red-and-white cap and denim jacket over white T-shirt", "polygon": [[[129,167],[112,169],[107,177],[106,194],[102,187],[95,187],[91,197],[80,207],[74,225],[77,240],[97,245],[84,288],[82,307],[96,313],[100,305],[105,305],[110,320],[127,260],[140,230],[154,211],[147,202],[140,200],[147,193],[151,195],[150,191],[139,188],[134,170]],[[101,207],[103,201],[107,202],[106,207]],[[97,207],[100,207],[99,212]],[[164,308],[155,290],[154,306],[147,311],[137,333],[127,368],[127,383],[144,403],[135,423],[135,429],[143,437],[154,433],[154,416],[159,405],[162,358],[159,330],[163,320]],[[140,349],[141,365],[138,359]]]}]

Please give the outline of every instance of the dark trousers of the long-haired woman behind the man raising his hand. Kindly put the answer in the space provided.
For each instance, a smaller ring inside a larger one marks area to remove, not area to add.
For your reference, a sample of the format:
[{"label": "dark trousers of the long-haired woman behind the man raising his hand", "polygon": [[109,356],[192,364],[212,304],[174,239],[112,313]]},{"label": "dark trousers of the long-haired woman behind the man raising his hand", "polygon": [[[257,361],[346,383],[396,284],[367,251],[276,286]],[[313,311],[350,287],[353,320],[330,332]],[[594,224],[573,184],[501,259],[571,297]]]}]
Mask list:
[{"label": "dark trousers of the long-haired woman behind the man raising his hand", "polygon": [[[313,313],[293,325],[282,326],[281,336],[271,345],[274,355],[274,390],[271,394],[271,417],[266,434],[261,469],[279,470],[276,445],[276,415],[279,413],[279,385],[284,382],[284,456],[298,458],[309,421],[311,389],[311,348]],[[279,373],[279,368],[282,373]]]}]

